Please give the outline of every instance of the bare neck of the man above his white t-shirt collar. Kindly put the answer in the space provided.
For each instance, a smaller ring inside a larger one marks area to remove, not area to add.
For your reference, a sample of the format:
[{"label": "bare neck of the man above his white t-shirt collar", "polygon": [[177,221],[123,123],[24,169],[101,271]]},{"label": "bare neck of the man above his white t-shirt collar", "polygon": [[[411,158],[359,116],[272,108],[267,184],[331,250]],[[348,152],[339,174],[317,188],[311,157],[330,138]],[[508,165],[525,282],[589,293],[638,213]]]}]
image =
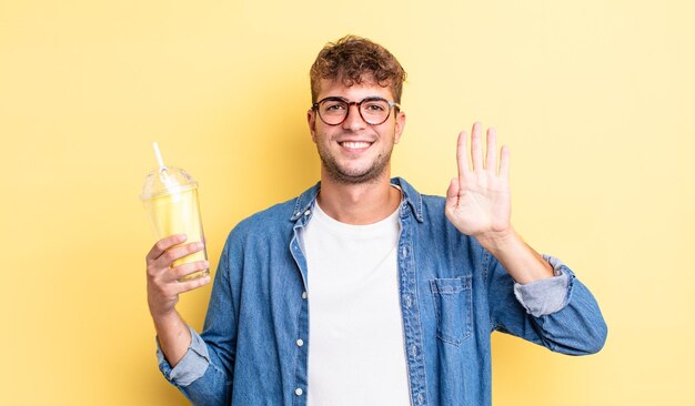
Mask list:
[{"label": "bare neck of the man above his white t-shirt collar", "polygon": [[372,182],[359,184],[335,182],[322,173],[316,200],[332,219],[363,225],[376,223],[392,214],[401,203],[401,192],[391,186],[387,172]]}]

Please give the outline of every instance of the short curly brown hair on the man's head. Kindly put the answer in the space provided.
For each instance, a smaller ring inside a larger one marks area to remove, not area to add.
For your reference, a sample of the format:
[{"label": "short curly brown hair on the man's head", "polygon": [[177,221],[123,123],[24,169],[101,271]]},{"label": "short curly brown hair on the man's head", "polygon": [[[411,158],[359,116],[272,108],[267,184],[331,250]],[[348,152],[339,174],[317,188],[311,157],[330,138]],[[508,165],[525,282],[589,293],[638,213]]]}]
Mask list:
[{"label": "short curly brown hair on the man's head", "polygon": [[400,103],[405,71],[384,47],[366,38],[345,35],[323,47],[311,65],[310,77],[311,100],[314,103],[321,79],[339,79],[346,87],[373,79],[381,87],[391,87],[394,101]]}]

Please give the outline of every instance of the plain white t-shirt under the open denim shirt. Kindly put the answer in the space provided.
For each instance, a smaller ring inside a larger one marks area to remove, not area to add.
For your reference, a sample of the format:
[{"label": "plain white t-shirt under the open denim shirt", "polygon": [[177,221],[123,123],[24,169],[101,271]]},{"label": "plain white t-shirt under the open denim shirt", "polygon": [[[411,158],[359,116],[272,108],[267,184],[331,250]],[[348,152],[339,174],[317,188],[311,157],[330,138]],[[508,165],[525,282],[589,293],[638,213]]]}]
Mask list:
[{"label": "plain white t-shirt under the open denim shirt", "polygon": [[319,204],[301,234],[308,264],[309,406],[410,405],[399,300],[396,210],[369,225]]}]

